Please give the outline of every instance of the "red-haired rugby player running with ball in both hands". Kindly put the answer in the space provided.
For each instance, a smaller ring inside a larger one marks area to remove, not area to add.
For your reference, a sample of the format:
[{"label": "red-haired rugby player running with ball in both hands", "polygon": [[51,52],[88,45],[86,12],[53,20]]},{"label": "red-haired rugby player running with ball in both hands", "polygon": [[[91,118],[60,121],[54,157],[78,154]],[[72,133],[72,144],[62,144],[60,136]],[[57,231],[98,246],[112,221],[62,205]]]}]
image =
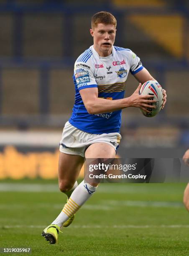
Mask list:
[{"label": "red-haired rugby player running with ball in both hands", "polygon": [[[135,107],[146,110],[152,96],[139,95],[141,85],[155,80],[130,49],[114,46],[116,19],[100,12],[92,17],[90,34],[94,44],[82,53],[74,65],[75,104],[65,124],[60,141],[59,189],[67,195],[67,203],[58,217],[43,230],[42,236],[56,243],[61,227],[69,226],[74,214],[91,197],[97,183],[77,184],[84,158],[113,159],[121,135],[121,111]],[[124,98],[129,71],[139,85],[130,97]],[[163,90],[163,104],[166,91]]]}]

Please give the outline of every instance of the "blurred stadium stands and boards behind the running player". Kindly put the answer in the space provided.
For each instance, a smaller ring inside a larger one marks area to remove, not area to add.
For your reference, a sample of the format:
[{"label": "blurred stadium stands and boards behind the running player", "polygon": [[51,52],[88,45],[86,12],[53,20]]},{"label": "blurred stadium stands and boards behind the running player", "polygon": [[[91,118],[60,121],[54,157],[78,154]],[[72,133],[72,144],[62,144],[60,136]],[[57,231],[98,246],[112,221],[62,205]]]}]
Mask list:
[{"label": "blurred stadium stands and boards behind the running player", "polygon": [[[0,179],[57,177],[74,62],[101,10],[117,18],[115,45],[132,49],[168,95],[154,118],[123,110],[119,156],[182,157],[189,147],[187,0],[0,0]],[[130,74],[125,97],[137,86]]]}]

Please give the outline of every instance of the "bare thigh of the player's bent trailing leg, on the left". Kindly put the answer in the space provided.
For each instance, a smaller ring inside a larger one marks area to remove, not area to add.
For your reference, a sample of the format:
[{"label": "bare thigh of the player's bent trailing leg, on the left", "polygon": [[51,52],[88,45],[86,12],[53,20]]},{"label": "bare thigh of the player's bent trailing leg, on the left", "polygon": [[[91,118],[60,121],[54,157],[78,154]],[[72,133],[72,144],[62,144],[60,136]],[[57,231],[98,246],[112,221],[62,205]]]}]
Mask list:
[{"label": "bare thigh of the player's bent trailing leg, on the left", "polygon": [[[74,185],[84,163],[84,158],[78,155],[59,154],[59,186],[60,183]],[[73,187],[73,186],[72,186]]]}]

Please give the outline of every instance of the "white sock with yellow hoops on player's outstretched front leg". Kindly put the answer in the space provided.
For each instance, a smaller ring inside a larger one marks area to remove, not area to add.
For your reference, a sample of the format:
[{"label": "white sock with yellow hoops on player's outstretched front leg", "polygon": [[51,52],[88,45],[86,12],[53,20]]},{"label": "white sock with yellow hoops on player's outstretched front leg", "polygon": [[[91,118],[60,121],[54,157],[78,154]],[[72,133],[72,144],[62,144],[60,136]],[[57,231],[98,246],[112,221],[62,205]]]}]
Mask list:
[{"label": "white sock with yellow hoops on player's outstretched front leg", "polygon": [[60,228],[62,224],[68,220],[79,208],[91,197],[96,191],[97,187],[93,187],[88,183],[84,183],[84,180],[77,186],[72,192],[66,205],[62,209],[59,216],[52,222],[52,224],[58,225]]}]

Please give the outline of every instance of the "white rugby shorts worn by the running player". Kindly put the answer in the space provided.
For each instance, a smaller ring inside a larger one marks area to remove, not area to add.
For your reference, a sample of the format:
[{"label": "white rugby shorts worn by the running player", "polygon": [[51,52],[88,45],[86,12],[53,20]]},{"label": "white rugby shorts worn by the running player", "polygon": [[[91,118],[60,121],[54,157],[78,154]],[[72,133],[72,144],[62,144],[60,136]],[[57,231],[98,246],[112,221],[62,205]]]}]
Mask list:
[{"label": "white rugby shorts worn by the running player", "polygon": [[69,122],[66,122],[60,141],[60,152],[84,157],[84,153],[88,146],[97,142],[107,143],[115,148],[116,151],[119,146],[120,139],[120,133],[86,133],[77,129]]}]

